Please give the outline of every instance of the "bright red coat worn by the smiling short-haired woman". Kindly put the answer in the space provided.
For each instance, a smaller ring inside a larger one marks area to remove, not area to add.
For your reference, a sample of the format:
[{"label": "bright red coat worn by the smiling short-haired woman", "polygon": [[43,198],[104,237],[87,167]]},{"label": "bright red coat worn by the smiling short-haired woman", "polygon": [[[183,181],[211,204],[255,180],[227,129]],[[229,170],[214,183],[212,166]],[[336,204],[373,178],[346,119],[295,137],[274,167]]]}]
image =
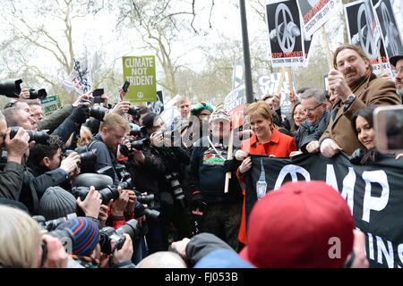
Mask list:
[{"label": "bright red coat worn by the smiling short-haired woman", "polygon": [[[277,157],[289,157],[292,151],[296,151],[296,141],[294,138],[280,133],[279,130],[273,129],[271,140],[267,143],[259,143],[256,135],[253,135],[250,139],[244,140],[241,143],[241,149],[252,155],[274,155]],[[239,181],[244,182],[246,176],[236,172]],[[245,195],[245,189],[243,191]],[[241,225],[239,227],[238,240],[246,244],[246,208],[245,199],[242,206]]]}]

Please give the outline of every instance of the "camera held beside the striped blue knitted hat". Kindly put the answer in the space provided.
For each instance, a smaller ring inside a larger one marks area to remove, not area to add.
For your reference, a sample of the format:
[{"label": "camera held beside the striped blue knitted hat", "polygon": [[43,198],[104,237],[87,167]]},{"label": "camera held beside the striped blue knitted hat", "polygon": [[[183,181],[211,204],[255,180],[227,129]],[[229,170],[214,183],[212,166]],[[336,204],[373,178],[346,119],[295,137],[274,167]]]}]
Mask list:
[{"label": "camera held beside the striped blue knitted hat", "polygon": [[104,227],[99,231],[99,245],[101,252],[110,255],[112,254],[112,248],[110,246],[110,241],[115,240],[115,248],[120,249],[124,245],[124,233],[127,233],[132,240],[137,238],[141,234],[141,230],[137,223],[137,220],[132,219],[118,229],[114,229],[110,226]]}]

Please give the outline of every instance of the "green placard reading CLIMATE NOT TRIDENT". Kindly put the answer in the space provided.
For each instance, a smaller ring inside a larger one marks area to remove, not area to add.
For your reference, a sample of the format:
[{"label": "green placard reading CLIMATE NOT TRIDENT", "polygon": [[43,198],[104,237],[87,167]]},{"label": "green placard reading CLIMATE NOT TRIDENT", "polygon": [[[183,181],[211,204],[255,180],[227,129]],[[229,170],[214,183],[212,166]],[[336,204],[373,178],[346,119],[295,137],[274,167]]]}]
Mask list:
[{"label": "green placard reading CLIMATE NOT TRIDENT", "polygon": [[155,56],[124,56],[122,60],[124,80],[130,82],[125,99],[133,103],[156,101]]}]

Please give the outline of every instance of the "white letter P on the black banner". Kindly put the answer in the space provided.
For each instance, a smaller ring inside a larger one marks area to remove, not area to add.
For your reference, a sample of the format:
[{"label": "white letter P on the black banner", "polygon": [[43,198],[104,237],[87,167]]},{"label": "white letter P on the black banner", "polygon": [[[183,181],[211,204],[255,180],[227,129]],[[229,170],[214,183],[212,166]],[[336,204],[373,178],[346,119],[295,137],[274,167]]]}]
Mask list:
[{"label": "white letter P on the black banner", "polygon": [[[388,205],[389,200],[389,183],[388,176],[386,172],[379,171],[364,171],[363,179],[365,181],[365,193],[364,193],[364,204],[363,204],[363,221],[370,222],[370,212],[381,211],[385,206]],[[380,198],[371,196],[371,183],[377,182],[382,187],[382,194]]]}]

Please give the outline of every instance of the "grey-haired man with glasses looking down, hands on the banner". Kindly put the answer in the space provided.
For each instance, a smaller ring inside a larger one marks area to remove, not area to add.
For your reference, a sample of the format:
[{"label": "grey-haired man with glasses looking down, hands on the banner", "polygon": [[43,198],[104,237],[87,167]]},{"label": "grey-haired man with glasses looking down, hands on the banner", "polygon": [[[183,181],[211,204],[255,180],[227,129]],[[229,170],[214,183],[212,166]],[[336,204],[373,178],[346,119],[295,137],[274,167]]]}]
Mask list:
[{"label": "grey-haired man with glasses looking down, hands on the banner", "polygon": [[306,119],[296,131],[296,145],[302,152],[315,153],[330,119],[326,96],[322,90],[307,89],[300,97]]}]

